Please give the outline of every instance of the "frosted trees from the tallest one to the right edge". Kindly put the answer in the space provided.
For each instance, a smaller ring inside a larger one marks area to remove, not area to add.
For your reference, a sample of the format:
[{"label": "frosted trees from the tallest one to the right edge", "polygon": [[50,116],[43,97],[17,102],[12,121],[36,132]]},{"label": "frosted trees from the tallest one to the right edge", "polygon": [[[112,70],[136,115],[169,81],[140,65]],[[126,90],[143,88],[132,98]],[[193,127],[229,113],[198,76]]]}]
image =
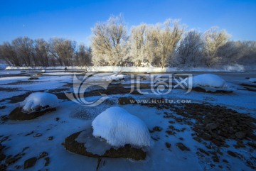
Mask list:
[{"label": "frosted trees from the tallest one to the right edge", "polygon": [[112,16],[92,28],[95,65],[213,67],[255,65],[255,41],[230,41],[218,28],[205,33],[186,31],[179,21],[133,26],[127,33],[122,16]]}]

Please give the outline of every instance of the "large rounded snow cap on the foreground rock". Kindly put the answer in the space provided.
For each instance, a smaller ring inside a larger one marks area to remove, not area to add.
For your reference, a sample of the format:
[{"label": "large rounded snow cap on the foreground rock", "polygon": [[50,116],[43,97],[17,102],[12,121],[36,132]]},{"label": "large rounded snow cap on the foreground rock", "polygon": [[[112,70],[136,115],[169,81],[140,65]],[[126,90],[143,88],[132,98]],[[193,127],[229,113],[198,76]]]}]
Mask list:
[{"label": "large rounded snow cap on the foreground rock", "polygon": [[93,136],[104,138],[113,146],[150,146],[151,139],[146,124],[119,107],[103,111],[92,121],[92,128]]}]

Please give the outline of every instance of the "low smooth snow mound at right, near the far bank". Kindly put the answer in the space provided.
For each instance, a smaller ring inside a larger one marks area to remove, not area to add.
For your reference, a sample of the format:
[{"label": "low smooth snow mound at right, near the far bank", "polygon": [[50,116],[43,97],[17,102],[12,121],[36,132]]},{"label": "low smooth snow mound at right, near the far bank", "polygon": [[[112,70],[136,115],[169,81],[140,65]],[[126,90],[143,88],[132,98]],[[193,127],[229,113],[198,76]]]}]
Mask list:
[{"label": "low smooth snow mound at right, near the far bank", "polygon": [[202,87],[228,88],[225,80],[218,75],[203,74],[193,77],[193,85]]}]

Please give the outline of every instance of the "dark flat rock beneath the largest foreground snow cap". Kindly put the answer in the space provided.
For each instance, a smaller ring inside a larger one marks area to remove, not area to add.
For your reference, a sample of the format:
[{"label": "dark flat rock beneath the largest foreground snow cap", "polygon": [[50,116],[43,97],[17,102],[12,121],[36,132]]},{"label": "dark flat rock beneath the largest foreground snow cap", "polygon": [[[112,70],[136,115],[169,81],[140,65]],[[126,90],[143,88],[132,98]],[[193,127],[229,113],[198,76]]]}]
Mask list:
[{"label": "dark flat rock beneath the largest foreground snow cap", "polygon": [[[146,152],[140,148],[134,148],[131,145],[124,145],[121,148],[110,148],[106,150],[103,155],[96,155],[87,151],[84,143],[78,143],[76,139],[81,132],[73,133],[71,136],[65,138],[63,143],[66,150],[72,153],[85,155],[92,158],[132,158],[134,160],[144,160],[146,158]],[[100,140],[100,139],[99,139]]]}]

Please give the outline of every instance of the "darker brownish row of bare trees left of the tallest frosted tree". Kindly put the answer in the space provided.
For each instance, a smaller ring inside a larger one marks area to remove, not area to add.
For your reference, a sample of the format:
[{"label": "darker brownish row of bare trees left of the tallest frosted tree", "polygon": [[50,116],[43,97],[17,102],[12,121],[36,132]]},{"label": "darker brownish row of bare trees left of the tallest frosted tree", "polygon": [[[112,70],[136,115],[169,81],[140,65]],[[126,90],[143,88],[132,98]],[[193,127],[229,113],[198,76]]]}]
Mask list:
[{"label": "darker brownish row of bare trees left of the tallest frosted tree", "polygon": [[11,66],[87,66],[91,49],[64,38],[32,40],[23,37],[0,45],[0,57]]}]

